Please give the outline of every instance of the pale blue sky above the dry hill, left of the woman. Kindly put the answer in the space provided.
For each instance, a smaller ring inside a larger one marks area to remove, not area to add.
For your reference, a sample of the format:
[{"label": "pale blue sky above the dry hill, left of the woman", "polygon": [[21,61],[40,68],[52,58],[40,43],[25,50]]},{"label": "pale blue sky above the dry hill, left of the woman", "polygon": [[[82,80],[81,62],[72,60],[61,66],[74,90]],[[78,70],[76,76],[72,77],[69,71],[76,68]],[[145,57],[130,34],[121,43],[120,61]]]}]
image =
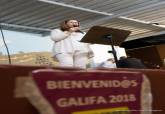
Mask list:
[{"label": "pale blue sky above the dry hill, left of the woman", "polygon": [[[49,37],[38,34],[3,30],[6,43],[11,54],[23,52],[51,51],[52,41]],[[6,49],[0,36],[0,51],[6,54]]]}]

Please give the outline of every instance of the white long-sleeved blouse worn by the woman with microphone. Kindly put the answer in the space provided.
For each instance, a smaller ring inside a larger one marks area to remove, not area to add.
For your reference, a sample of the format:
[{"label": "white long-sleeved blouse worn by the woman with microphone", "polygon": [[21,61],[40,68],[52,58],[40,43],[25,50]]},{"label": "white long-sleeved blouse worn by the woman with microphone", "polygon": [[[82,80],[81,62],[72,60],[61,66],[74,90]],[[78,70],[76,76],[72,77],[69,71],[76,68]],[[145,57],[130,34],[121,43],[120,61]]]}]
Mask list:
[{"label": "white long-sleeved blouse worn by the woman with microphone", "polygon": [[75,51],[88,53],[91,51],[89,44],[80,42],[84,35],[85,33],[80,32],[69,33],[60,29],[52,30],[51,39],[54,41],[53,54],[74,53]]}]

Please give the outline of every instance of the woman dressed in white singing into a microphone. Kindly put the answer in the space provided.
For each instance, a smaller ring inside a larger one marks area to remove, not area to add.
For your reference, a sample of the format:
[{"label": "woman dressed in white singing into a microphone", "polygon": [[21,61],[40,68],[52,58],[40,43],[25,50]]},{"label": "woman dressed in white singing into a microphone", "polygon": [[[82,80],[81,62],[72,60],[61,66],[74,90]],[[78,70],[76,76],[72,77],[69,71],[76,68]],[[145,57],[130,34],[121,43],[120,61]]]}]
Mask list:
[{"label": "woman dressed in white singing into a microphone", "polygon": [[61,66],[86,68],[88,58],[93,56],[93,52],[89,44],[80,42],[84,35],[77,20],[65,20],[60,29],[51,32],[53,54]]}]

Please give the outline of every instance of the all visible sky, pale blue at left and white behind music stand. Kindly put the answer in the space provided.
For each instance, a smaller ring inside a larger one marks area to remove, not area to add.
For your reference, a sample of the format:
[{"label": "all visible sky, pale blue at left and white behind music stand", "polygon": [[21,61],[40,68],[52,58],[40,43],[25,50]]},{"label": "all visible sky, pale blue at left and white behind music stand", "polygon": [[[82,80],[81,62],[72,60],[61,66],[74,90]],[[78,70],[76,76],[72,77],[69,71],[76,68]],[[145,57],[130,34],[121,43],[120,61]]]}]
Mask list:
[{"label": "all visible sky, pale blue at left and white behind music stand", "polygon": [[[7,43],[10,54],[16,54],[19,52],[51,52],[53,41],[50,36],[41,36],[39,34],[30,34],[16,31],[3,30],[5,41]],[[94,62],[100,63],[108,58],[113,58],[113,55],[108,53],[111,50],[111,46],[108,45],[91,45],[94,51]],[[125,50],[119,47],[115,47],[118,58],[120,56],[126,56]],[[4,46],[2,35],[0,34],[0,52],[6,55],[6,48]]]}]

